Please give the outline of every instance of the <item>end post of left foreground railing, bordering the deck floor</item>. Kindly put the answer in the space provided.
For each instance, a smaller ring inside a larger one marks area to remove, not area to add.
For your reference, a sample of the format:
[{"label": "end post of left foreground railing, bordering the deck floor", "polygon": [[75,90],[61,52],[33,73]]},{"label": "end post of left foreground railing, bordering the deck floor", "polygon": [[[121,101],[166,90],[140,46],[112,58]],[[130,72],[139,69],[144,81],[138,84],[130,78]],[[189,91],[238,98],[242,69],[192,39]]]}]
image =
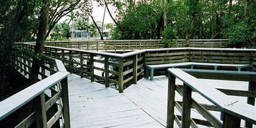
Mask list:
[{"label": "end post of left foreground railing, bordering the deck floor", "polygon": [[64,118],[64,127],[70,128],[70,110],[69,110],[69,101],[68,101],[68,77],[60,81],[62,87],[62,102],[63,102],[63,118]]}]

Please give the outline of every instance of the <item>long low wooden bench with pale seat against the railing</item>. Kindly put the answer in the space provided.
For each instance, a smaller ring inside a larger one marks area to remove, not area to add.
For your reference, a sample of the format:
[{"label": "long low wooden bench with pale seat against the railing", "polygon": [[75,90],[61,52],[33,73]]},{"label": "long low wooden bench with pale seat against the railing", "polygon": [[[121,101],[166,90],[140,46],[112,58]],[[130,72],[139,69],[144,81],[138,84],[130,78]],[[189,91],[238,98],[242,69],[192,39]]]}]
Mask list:
[{"label": "long low wooden bench with pale seat against the railing", "polygon": [[251,65],[240,65],[240,64],[194,63],[194,62],[169,63],[169,64],[161,64],[161,65],[146,65],[146,78],[149,77],[149,71],[150,71],[150,80],[153,80],[155,69],[167,69],[167,68],[176,68],[176,67],[185,67],[185,66],[189,66],[191,69],[193,69],[194,66],[207,66],[207,67],[213,67],[214,70],[218,70],[219,67],[237,68],[238,71],[241,71],[242,68],[250,69],[252,67]]}]

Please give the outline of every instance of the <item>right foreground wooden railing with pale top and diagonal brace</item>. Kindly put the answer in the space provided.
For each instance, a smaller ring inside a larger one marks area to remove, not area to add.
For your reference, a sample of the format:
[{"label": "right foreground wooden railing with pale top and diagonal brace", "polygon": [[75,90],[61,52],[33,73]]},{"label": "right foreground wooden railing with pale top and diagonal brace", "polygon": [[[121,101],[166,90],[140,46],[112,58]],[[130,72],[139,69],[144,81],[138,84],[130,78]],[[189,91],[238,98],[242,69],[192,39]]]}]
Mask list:
[{"label": "right foreground wooden railing with pale top and diagonal brace", "polygon": [[[248,91],[215,89],[213,88],[215,83],[203,82],[198,78],[248,81],[249,89]],[[183,85],[177,85],[176,79],[181,80]],[[241,119],[245,120],[245,127],[252,127],[252,124],[256,124],[256,107],[252,106],[255,105],[255,90],[255,72],[169,69],[167,127],[174,127],[174,121],[178,127],[185,128],[198,127],[198,125],[240,127]],[[177,101],[176,92],[182,96],[182,102]],[[192,92],[198,93],[211,104],[199,103],[193,98],[196,94],[191,95]],[[228,95],[247,97],[247,103],[250,105]],[[203,119],[198,119],[198,116],[193,117],[191,112],[201,114]],[[214,112],[220,112],[220,117],[213,116]]]}]

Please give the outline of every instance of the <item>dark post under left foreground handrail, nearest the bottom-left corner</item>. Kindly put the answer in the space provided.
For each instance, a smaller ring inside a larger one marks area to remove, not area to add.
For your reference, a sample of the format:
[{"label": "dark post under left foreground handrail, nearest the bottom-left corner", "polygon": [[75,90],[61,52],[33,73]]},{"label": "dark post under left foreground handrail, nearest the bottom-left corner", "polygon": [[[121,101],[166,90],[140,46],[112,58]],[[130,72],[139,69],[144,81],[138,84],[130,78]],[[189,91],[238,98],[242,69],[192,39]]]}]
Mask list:
[{"label": "dark post under left foreground handrail, nearest the bottom-left corner", "polygon": [[46,99],[45,93],[42,92],[41,95],[35,98],[35,112],[36,112],[36,127],[47,127],[47,117],[46,117]]}]

